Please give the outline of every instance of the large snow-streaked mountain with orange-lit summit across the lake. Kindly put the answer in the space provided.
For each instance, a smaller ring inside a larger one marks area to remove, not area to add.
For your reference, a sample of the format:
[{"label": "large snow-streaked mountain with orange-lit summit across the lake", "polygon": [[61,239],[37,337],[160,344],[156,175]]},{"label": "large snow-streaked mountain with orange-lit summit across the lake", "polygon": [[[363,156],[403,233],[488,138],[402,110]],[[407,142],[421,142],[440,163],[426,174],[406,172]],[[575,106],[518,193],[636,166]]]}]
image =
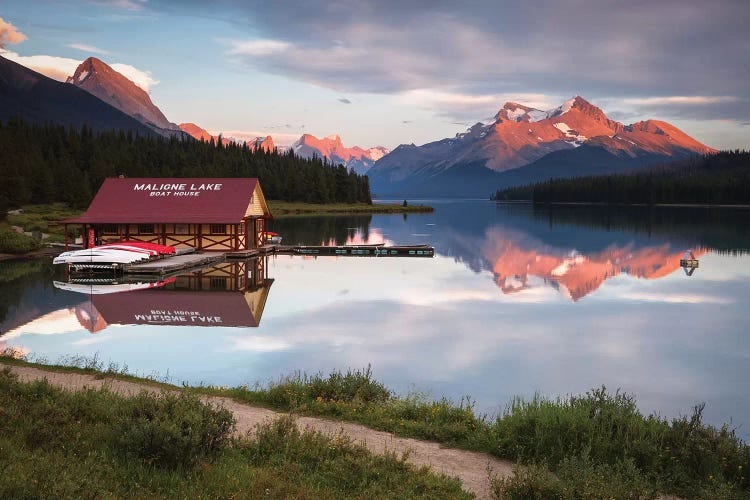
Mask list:
[{"label": "large snow-streaked mountain with orange-lit summit across the lake", "polygon": [[[485,195],[487,182],[523,183],[536,180],[530,172],[546,175],[551,161],[547,157],[553,153],[557,156],[551,158],[576,166],[553,172],[565,177],[591,173],[592,162],[595,171],[603,172],[608,161],[624,169],[710,151],[669,123],[624,125],[577,96],[548,111],[506,102],[493,122],[477,123],[455,137],[423,146],[401,145],[368,175],[377,195],[450,195],[457,185],[465,189],[461,195]],[[537,162],[544,169],[536,168]]]}]

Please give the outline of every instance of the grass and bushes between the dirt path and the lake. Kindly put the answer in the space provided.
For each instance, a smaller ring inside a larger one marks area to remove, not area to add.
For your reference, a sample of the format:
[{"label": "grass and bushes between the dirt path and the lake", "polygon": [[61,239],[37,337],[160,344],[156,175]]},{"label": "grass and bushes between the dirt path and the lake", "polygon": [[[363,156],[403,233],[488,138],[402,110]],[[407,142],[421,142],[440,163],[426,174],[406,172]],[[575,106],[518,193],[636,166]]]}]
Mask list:
[{"label": "grass and bushes between the dirt path and the lake", "polygon": [[497,498],[650,498],[657,493],[750,498],[750,447],[726,425],[705,424],[701,405],[672,420],[644,416],[633,396],[602,387],[566,398],[516,398],[490,418],[475,414],[469,398],[456,404],[399,397],[374,380],[369,368],[295,374],[266,386],[185,390],[357,422],[518,462],[514,478],[493,480]]}]

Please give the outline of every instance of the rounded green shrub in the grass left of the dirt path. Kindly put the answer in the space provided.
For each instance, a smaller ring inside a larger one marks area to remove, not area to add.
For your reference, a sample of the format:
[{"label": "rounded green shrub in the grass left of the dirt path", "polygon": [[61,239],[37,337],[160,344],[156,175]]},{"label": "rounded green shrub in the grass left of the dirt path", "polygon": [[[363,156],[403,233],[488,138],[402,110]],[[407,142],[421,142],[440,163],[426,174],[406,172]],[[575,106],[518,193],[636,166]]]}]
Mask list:
[{"label": "rounded green shrub in the grass left of the dirt path", "polygon": [[222,451],[234,424],[231,412],[195,395],[142,392],[121,415],[116,444],[125,455],[160,467],[189,468]]}]

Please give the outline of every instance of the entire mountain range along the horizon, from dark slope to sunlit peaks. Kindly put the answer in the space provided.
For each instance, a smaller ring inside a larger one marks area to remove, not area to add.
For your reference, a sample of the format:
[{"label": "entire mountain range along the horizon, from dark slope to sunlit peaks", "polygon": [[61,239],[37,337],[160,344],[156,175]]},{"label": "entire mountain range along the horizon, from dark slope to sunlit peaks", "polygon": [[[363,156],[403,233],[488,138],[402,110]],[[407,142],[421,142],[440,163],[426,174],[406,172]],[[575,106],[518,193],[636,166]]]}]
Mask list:
[{"label": "entire mountain range along the horizon, from dark slope to sunlit peaks", "polygon": [[[60,83],[0,56],[0,119],[20,115],[94,130],[218,140],[194,123],[170,122],[148,93],[103,61],[83,61]],[[222,142],[242,142],[222,137]],[[247,141],[275,149],[271,136]],[[481,196],[552,177],[614,173],[715,150],[658,120],[625,125],[580,96],[547,111],[507,102],[489,123],[455,137],[393,151],[346,147],[338,135],[302,135],[299,156],[325,157],[370,177],[376,196]]]}]

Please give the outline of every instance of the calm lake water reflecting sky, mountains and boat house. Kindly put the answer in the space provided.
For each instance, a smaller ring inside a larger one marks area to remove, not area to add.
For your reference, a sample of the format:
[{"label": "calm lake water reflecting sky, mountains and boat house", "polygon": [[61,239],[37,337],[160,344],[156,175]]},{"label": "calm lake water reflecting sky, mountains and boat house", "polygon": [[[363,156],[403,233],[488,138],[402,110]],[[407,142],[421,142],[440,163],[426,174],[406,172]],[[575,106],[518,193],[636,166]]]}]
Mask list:
[{"label": "calm lake water reflecting sky, mountains and boat house", "polygon": [[470,395],[488,413],[606,385],[667,417],[705,402],[707,421],[750,436],[750,211],[429,203],[272,229],[430,243],[434,258],[275,256],[93,295],[55,286],[48,261],[0,262],[0,348],[225,386],[371,365],[400,394]]}]

